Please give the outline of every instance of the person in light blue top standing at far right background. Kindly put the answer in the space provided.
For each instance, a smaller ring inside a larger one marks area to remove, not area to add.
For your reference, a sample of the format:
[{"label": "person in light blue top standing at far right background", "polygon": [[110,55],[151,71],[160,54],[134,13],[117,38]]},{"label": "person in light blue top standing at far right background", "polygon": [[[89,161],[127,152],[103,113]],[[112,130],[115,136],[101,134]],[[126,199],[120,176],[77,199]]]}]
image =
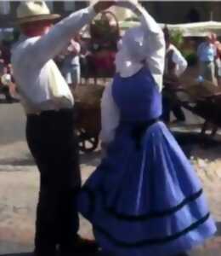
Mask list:
[{"label": "person in light blue top standing at far right background", "polygon": [[197,56],[199,60],[199,75],[214,85],[217,85],[215,77],[215,60],[217,57],[217,48],[212,44],[212,36],[205,38],[197,48]]}]

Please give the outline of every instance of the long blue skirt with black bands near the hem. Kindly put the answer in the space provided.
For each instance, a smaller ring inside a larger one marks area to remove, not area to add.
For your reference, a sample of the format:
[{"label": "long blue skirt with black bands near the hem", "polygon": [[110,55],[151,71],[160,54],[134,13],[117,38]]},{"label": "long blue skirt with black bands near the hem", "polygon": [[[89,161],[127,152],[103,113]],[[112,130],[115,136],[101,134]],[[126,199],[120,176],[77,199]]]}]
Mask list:
[{"label": "long blue skirt with black bands near the hem", "polygon": [[200,245],[215,231],[201,183],[166,125],[144,132],[120,125],[107,155],[88,178],[79,210],[99,245],[122,256],[164,256]]}]

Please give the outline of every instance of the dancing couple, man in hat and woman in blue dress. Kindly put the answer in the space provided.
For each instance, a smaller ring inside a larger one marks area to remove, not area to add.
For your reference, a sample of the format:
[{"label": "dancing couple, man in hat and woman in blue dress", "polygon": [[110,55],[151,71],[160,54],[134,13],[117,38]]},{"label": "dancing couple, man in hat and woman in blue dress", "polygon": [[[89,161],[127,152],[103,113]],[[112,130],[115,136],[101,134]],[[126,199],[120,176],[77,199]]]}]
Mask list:
[{"label": "dancing couple, man in hat and woman in blue dress", "polygon": [[[54,57],[99,12],[131,9],[140,25],[118,42],[116,74],[102,97],[105,156],[81,189],[74,100]],[[14,45],[14,78],[26,111],[26,138],[40,172],[35,256],[96,251],[77,235],[78,212],[93,225],[96,241],[111,255],[185,253],[215,231],[201,183],[161,120],[165,42],[139,3],[104,1],[52,26],[42,1],[20,3],[22,36]]]}]

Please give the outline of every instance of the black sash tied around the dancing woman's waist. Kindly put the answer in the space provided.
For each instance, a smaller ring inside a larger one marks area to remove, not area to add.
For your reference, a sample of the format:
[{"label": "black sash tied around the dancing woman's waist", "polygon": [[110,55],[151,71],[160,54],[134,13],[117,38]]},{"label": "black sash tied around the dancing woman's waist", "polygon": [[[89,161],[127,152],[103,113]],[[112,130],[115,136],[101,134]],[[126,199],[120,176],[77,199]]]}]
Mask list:
[{"label": "black sash tied around the dancing woman's waist", "polygon": [[141,148],[141,141],[142,137],[144,136],[144,132],[153,124],[158,122],[160,118],[156,119],[150,119],[148,121],[142,121],[142,122],[137,122],[134,124],[134,127],[131,132],[131,136],[135,139],[136,142],[136,148]]}]

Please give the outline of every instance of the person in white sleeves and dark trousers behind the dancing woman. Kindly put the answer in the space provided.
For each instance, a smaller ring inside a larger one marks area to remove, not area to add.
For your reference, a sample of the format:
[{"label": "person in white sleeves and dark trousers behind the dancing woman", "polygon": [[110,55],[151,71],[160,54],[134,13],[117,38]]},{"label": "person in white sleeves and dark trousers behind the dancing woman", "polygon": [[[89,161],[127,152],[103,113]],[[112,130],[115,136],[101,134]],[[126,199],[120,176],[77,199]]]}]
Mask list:
[{"label": "person in white sleeves and dark trousers behind the dancing woman", "polygon": [[163,32],[166,42],[166,55],[163,81],[162,119],[166,123],[169,123],[170,113],[172,111],[176,118],[174,122],[182,123],[185,121],[185,115],[180,105],[176,102],[174,90],[176,90],[179,85],[178,78],[184,73],[187,67],[187,61],[177,47],[171,43],[170,32],[167,26],[164,27]]}]

